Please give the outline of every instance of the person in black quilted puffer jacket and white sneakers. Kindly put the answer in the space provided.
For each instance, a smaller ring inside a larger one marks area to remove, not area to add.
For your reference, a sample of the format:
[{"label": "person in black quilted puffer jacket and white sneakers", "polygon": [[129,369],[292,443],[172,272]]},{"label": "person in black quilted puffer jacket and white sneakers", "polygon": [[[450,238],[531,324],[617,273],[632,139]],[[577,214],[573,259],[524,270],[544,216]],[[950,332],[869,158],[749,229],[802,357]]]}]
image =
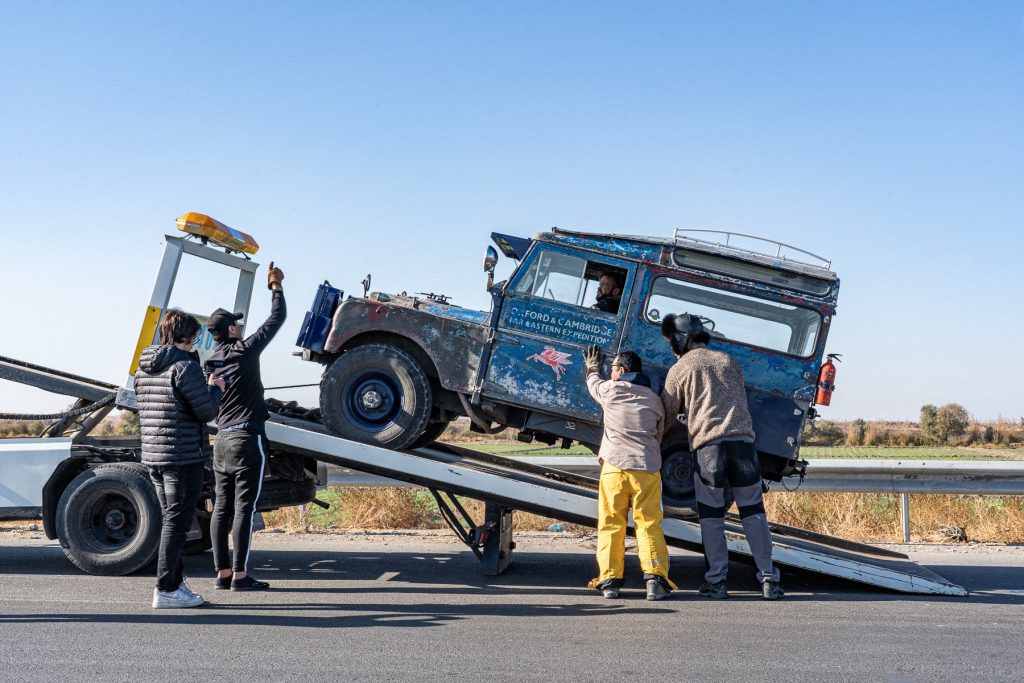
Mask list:
[{"label": "person in black quilted puffer jacket and white sneakers", "polygon": [[206,423],[217,417],[224,382],[204,380],[190,353],[199,321],[172,308],[160,323],[160,345],[147,346],[135,373],[142,464],[157,488],[163,522],[157,555],[156,609],[198,607],[181,561],[209,460]]}]

